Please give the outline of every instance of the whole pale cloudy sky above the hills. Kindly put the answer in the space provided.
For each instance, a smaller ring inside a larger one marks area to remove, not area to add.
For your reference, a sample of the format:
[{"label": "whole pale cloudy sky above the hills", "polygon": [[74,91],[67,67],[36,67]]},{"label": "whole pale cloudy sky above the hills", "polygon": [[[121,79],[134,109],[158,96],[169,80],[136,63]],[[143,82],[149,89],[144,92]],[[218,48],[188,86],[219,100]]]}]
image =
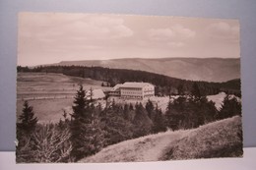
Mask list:
[{"label": "whole pale cloudy sky above the hills", "polygon": [[20,13],[18,65],[118,58],[239,58],[238,20]]}]

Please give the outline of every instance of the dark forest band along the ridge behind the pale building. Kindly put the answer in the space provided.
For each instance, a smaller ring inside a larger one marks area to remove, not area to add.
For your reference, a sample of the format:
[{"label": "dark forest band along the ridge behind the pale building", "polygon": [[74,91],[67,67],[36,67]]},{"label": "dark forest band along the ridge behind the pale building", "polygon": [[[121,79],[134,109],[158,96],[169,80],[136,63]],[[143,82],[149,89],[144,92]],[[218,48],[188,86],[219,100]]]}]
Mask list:
[{"label": "dark forest band along the ridge behind the pale building", "polygon": [[102,81],[102,85],[107,86],[114,86],[125,82],[147,82],[156,85],[156,95],[180,94],[180,89],[186,94],[191,94],[194,83],[198,84],[201,93],[204,95],[213,95],[220,91],[224,91],[228,94],[235,94],[237,96],[241,95],[239,79],[225,83],[193,82],[145,71],[86,66],[39,66],[35,68],[18,66],[17,71],[61,73],[67,76]]}]

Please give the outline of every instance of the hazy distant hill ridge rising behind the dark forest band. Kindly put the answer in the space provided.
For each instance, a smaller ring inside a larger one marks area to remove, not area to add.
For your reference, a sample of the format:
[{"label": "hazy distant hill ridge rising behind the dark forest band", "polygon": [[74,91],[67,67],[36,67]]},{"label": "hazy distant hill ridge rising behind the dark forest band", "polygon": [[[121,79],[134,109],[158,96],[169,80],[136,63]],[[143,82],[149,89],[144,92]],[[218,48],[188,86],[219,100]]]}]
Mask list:
[{"label": "hazy distant hill ridge rising behind the dark forest band", "polygon": [[126,58],[62,61],[53,65],[141,70],[191,81],[226,82],[240,78],[240,59],[238,58]]}]

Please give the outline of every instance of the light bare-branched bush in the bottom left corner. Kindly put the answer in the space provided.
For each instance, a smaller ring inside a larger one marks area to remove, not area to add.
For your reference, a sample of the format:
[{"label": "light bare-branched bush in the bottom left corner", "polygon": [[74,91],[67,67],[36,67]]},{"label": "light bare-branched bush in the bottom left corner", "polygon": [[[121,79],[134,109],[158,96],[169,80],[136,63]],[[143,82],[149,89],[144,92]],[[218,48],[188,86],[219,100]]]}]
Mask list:
[{"label": "light bare-branched bush in the bottom left corner", "polygon": [[21,162],[70,162],[72,144],[68,128],[57,125],[38,125],[31,136],[23,137],[24,144],[16,152],[16,161]]}]

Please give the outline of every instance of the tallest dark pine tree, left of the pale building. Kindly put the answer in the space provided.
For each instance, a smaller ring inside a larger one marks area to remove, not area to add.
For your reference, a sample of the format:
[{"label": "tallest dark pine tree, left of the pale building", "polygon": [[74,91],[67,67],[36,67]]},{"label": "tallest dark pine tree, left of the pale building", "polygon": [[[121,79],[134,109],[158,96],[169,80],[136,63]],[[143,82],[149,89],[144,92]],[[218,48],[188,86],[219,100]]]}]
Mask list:
[{"label": "tallest dark pine tree, left of the pale building", "polygon": [[95,140],[100,133],[96,133],[96,121],[93,119],[94,110],[91,108],[90,98],[86,95],[83,85],[80,85],[77,91],[72,108],[70,129],[73,149],[71,155],[77,161],[98,151]]}]

